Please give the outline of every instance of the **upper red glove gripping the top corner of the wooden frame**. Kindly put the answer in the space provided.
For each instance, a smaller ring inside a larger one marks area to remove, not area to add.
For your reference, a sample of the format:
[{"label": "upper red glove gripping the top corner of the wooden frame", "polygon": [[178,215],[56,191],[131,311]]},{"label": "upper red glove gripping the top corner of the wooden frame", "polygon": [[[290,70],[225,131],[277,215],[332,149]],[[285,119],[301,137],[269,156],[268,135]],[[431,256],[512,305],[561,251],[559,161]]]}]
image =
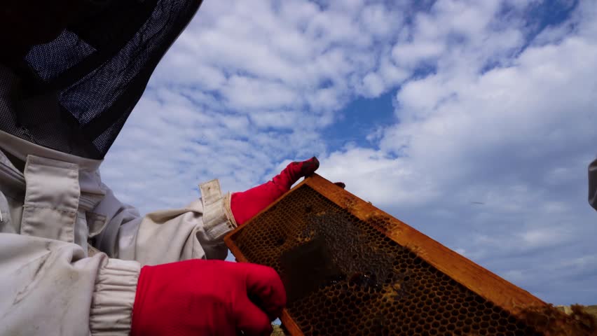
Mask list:
[{"label": "upper red glove gripping the top corner of the wooden frame", "polygon": [[259,214],[259,211],[266,209],[278,197],[290,190],[290,187],[301,177],[313,174],[319,167],[320,162],[315,156],[303,162],[291,162],[280,174],[274,176],[272,181],[243,193],[233,193],[230,207],[236,223],[245,224]]}]

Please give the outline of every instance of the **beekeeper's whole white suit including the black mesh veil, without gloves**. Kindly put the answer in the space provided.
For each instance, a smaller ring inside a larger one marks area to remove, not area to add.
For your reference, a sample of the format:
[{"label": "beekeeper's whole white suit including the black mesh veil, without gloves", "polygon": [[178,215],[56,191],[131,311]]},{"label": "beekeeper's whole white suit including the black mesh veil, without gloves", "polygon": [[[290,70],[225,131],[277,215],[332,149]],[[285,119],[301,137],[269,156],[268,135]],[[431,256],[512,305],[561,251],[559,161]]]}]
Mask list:
[{"label": "beekeeper's whole white suit including the black mesh veil, without gloves", "polygon": [[[81,3],[55,39],[0,62],[0,335],[128,335],[140,267],[223,259],[235,228],[217,181],[184,208],[139,216],[99,176],[200,1]],[[8,33],[3,56],[31,31]]]}]

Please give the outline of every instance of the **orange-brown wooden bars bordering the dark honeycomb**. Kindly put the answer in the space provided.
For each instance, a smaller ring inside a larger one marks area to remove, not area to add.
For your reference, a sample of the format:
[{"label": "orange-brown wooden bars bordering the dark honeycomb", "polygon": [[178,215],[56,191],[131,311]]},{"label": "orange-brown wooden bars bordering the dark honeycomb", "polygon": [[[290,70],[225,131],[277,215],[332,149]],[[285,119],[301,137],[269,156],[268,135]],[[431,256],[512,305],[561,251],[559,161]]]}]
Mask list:
[{"label": "orange-brown wooden bars bordering the dark honeycomb", "polygon": [[[347,209],[353,215],[362,221],[368,221],[371,218],[380,216],[385,218],[386,221],[390,221],[391,225],[389,228],[377,228],[383,232],[387,237],[390,237],[398,244],[409,248],[411,251],[416,253],[418,257],[428,262],[433,267],[437,268],[440,272],[451,277],[458,283],[462,284],[474,293],[477,293],[485,300],[493,302],[493,304],[505,309],[516,318],[520,318],[522,321],[528,319],[528,311],[545,311],[551,309],[551,305],[543,302],[534,295],[528,293],[515,286],[514,284],[502,279],[500,276],[493,274],[476,263],[468,260],[462,255],[455,253],[446,246],[439,244],[434,239],[424,235],[423,233],[411,228],[402,221],[390,216],[389,214],[381,211],[374,207],[371,203],[361,200],[359,197],[352,195],[346,190],[336,186],[334,183],[327,181],[322,176],[313,174],[309,178],[305,179],[295,188],[290,190],[288,193],[292,193],[293,190],[300,186],[307,185],[313,188],[327,199],[331,200],[339,207]],[[287,194],[288,194],[287,193]],[[277,202],[280,202],[282,198],[287,195],[284,194],[279,200],[270,204],[269,207],[261,211],[261,213],[268,211],[271,207],[274,207]],[[260,214],[261,214],[260,213]],[[255,216],[254,218],[257,218]],[[253,220],[249,221],[240,228],[237,228],[233,232],[226,235],[224,241],[226,245],[232,251],[233,255],[239,262],[248,262],[245,255],[243,255],[234,243],[234,236],[240,230],[243,230],[246,225],[251,225]],[[280,318],[284,327],[291,333],[291,335],[303,335],[299,327],[294,323],[288,311],[284,309]],[[549,334],[549,332],[548,332]]]}]

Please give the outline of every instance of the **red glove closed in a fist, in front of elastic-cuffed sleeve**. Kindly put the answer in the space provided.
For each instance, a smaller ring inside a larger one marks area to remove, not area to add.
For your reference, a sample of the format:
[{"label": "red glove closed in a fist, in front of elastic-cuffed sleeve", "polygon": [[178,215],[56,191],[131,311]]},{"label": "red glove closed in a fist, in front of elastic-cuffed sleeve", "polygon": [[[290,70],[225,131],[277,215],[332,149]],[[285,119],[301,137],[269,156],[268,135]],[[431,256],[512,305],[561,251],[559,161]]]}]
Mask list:
[{"label": "red glove closed in a fist, in front of elastic-cuffed sleeve", "polygon": [[145,266],[131,335],[270,335],[285,304],[270,267],[201,259]]}]

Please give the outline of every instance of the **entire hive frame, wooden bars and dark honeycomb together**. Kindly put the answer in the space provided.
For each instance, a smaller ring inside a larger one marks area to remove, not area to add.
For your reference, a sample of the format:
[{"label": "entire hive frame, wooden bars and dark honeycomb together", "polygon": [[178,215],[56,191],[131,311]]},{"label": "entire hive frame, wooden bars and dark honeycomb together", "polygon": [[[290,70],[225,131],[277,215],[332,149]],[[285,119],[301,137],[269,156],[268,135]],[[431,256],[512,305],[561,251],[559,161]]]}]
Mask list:
[{"label": "entire hive frame, wooden bars and dark honeycomb together", "polygon": [[280,273],[291,335],[591,333],[317,175],[226,243],[238,260]]}]

